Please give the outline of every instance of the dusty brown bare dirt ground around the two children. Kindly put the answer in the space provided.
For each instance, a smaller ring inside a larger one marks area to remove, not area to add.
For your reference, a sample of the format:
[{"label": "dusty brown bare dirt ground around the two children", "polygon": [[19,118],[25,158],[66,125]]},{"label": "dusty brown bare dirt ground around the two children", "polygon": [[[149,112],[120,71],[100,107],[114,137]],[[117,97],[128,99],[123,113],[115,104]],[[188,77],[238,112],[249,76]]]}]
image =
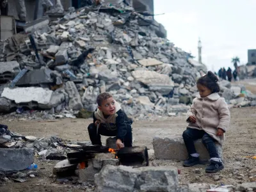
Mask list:
[{"label": "dusty brown bare dirt ground around the two children", "polygon": [[[219,179],[214,179],[214,175],[206,174],[204,165],[183,168],[182,162],[157,159],[151,159],[150,164],[152,166],[177,166],[181,169],[180,184],[191,182],[236,184],[252,180],[248,173],[256,167],[256,159],[245,156],[256,155],[256,108],[236,108],[230,111],[231,124],[223,147],[225,170],[215,174],[218,175]],[[79,141],[89,140],[86,127],[90,122],[92,122],[91,119],[63,119],[44,122],[1,119],[2,124],[7,124],[12,131],[23,135],[33,135],[38,138],[56,135],[63,139]],[[152,149],[154,136],[175,137],[182,134],[186,125],[184,116],[135,121],[133,125],[134,145],[146,145]],[[4,183],[3,186],[0,186],[0,191],[79,191],[70,185],[51,183],[49,175],[52,173],[54,164],[56,161],[40,162],[38,164],[39,175],[36,179],[22,184]],[[196,169],[200,169],[201,173],[195,173]]]}]

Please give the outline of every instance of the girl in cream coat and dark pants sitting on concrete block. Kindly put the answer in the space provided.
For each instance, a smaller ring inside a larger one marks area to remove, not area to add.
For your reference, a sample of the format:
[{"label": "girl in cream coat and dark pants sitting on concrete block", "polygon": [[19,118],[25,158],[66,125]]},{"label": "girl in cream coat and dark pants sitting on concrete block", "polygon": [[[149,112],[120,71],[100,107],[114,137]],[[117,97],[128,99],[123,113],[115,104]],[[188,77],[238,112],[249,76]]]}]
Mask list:
[{"label": "girl in cream coat and dark pants sitting on concrete block", "polygon": [[187,113],[189,123],[183,132],[183,140],[188,150],[189,158],[184,166],[200,164],[199,154],[196,153],[194,141],[201,139],[209,152],[210,164],[206,173],[216,173],[224,168],[221,158],[216,150],[215,141],[220,145],[225,139],[225,132],[230,124],[230,112],[224,98],[218,95],[220,86],[218,77],[211,71],[200,77],[196,82],[199,94]]}]

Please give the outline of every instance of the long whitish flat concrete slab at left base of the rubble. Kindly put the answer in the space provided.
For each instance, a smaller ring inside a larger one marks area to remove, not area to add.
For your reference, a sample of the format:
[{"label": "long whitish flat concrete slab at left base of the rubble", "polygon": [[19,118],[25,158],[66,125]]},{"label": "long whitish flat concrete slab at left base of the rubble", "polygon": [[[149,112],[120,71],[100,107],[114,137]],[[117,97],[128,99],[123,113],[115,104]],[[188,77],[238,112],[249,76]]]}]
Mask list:
[{"label": "long whitish flat concrete slab at left base of the rubble", "polygon": [[26,88],[4,88],[1,97],[13,100],[16,104],[37,102],[38,104],[49,104],[52,96],[51,90],[45,90],[39,87]]}]

